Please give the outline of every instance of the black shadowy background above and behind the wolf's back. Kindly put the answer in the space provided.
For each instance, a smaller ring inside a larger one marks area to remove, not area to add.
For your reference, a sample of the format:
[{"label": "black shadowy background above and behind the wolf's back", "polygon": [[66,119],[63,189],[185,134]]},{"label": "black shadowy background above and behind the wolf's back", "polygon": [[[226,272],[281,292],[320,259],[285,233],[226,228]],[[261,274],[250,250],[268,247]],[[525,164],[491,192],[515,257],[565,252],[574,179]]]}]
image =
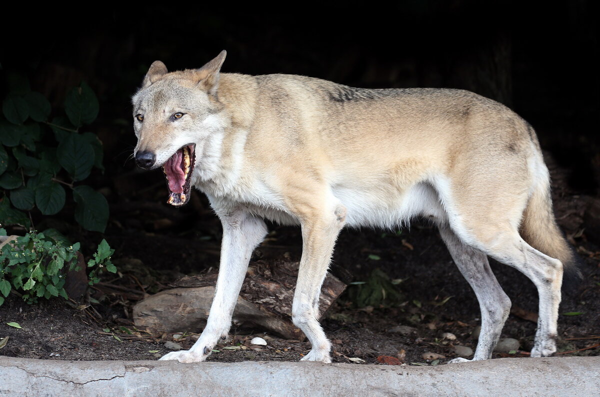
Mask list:
[{"label": "black shadowy background above and behind the wolf's back", "polygon": [[480,3],[424,0],[310,10],[289,4],[281,14],[180,4],[9,10],[0,63],[3,72],[27,73],[32,89],[57,109],[82,80],[97,92],[100,115],[89,129],[104,143],[106,172],[95,170],[91,184],[111,188],[115,194],[103,191],[111,204],[140,194],[114,188],[122,175],[149,186],[159,180],[128,160],[135,145],[130,97],[151,62],[160,59],[170,70],[196,68],[222,49],[228,52],[224,72],[302,74],[367,88],[463,88],[493,98],[536,128],[542,148],[568,170],[571,188],[595,195],[596,3]]}]

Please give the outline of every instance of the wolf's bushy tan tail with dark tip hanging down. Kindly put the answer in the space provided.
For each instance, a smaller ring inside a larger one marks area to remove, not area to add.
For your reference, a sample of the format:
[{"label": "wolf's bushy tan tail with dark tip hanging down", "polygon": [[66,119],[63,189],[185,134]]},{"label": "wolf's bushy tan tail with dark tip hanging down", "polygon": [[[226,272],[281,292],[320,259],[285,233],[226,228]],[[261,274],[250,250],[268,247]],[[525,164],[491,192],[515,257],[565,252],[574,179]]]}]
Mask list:
[{"label": "wolf's bushy tan tail with dark tip hanging down", "polygon": [[[545,168],[543,164],[542,167]],[[533,248],[562,262],[565,284],[571,287],[581,279],[577,255],[563,237],[554,218],[550,180],[547,176],[545,181],[538,181],[538,187],[529,198],[520,231],[521,237]]]}]

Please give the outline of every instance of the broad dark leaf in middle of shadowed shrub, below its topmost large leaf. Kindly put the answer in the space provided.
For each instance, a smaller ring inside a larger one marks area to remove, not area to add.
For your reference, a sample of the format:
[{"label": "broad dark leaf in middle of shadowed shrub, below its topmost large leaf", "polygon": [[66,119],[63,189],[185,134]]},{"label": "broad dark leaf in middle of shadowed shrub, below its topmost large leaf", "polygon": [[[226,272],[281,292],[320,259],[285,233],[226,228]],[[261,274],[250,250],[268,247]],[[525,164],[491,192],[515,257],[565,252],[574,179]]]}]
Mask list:
[{"label": "broad dark leaf in middle of shadowed shrub, below its topmost large leaf", "polygon": [[82,136],[70,133],[59,143],[56,157],[75,181],[88,178],[94,166],[94,148]]}]

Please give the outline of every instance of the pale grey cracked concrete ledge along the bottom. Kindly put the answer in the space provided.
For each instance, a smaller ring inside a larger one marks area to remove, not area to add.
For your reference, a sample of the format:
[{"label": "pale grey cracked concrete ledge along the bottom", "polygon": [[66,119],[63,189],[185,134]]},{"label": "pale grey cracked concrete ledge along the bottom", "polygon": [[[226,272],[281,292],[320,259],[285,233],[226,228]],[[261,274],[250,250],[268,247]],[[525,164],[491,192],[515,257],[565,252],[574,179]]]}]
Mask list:
[{"label": "pale grey cracked concrete ledge along the bottom", "polygon": [[58,361],[0,356],[0,396],[592,396],[600,357],[440,366]]}]

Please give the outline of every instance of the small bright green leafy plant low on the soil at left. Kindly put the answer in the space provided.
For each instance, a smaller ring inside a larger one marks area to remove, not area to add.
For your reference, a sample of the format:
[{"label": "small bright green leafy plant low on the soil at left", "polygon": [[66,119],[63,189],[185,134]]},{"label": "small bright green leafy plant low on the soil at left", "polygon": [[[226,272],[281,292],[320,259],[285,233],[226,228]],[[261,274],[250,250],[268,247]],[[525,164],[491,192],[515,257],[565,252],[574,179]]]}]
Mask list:
[{"label": "small bright green leafy plant low on the soil at left", "polygon": [[[6,230],[0,228],[0,235],[6,236]],[[0,305],[13,288],[27,303],[37,302],[41,297],[67,299],[65,274],[68,270],[80,270],[77,266],[79,246],[79,243],[68,245],[60,238],[35,231],[7,243],[0,252]],[[115,250],[106,240],[98,245],[94,258],[88,262],[88,267],[92,268],[90,285],[100,281],[98,273],[104,269],[116,273],[116,267],[110,261],[113,252]]]}]

